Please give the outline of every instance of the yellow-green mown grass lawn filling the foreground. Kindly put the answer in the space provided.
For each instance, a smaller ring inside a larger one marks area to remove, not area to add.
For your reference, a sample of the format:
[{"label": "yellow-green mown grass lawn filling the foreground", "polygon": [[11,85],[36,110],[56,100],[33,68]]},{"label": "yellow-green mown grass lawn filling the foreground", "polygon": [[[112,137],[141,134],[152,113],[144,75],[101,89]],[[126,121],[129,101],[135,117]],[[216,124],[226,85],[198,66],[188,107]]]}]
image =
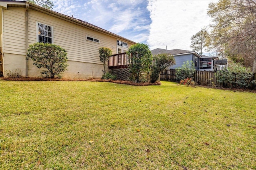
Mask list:
[{"label": "yellow-green mown grass lawn filling the foreground", "polygon": [[0,80],[0,169],[256,169],[256,94]]}]

